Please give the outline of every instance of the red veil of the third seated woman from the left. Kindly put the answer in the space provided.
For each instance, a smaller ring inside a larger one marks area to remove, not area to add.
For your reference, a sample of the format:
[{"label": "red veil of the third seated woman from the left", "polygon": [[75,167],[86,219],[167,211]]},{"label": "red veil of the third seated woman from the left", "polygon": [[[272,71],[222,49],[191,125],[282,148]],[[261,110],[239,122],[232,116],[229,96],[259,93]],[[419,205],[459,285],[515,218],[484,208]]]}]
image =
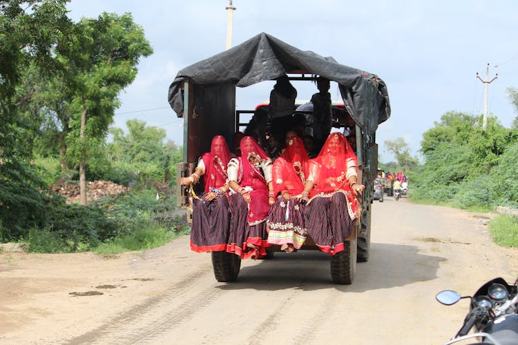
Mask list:
[{"label": "red veil of the third seated woman from the left", "polygon": [[299,137],[291,137],[285,152],[274,162],[275,195],[282,190],[287,190],[291,197],[302,193],[308,172],[309,157],[307,157],[304,141]]}]

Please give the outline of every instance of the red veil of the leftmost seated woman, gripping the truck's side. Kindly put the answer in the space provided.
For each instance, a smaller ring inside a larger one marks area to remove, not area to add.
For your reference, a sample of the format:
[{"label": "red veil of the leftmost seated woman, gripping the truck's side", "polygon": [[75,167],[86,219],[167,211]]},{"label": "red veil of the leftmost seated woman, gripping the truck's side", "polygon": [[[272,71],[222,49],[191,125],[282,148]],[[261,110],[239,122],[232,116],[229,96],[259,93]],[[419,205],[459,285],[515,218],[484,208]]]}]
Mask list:
[{"label": "red veil of the leftmost seated woman, gripping the truck's side", "polygon": [[227,182],[227,166],[232,158],[227,141],[222,135],[212,138],[211,152],[202,155],[205,164],[204,190],[209,193],[210,188],[220,188]]}]

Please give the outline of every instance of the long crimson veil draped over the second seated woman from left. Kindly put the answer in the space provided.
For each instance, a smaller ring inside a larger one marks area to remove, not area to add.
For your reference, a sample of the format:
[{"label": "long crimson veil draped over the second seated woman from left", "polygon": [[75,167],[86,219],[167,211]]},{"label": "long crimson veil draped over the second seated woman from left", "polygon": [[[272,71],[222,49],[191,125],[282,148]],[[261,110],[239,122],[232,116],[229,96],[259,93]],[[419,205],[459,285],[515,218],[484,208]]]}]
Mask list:
[{"label": "long crimson veil draped over the second seated woman from left", "polygon": [[242,166],[240,186],[252,188],[247,220],[250,225],[254,225],[266,220],[270,210],[268,204],[268,185],[265,176],[254,164],[254,160],[265,161],[270,158],[253,137],[243,137],[243,139],[241,139],[240,148]]}]

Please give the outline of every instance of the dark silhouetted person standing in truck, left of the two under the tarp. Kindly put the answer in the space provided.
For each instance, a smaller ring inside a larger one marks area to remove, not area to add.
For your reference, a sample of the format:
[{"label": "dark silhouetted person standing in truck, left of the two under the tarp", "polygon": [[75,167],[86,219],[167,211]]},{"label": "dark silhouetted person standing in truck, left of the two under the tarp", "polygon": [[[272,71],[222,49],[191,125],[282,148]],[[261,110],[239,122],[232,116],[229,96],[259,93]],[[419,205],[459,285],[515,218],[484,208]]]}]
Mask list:
[{"label": "dark silhouetted person standing in truck, left of the two under the tarp", "polygon": [[268,115],[271,121],[271,134],[276,137],[278,142],[282,143],[292,124],[291,114],[295,109],[297,90],[291,85],[287,75],[278,77],[276,81],[274,89],[270,92]]}]

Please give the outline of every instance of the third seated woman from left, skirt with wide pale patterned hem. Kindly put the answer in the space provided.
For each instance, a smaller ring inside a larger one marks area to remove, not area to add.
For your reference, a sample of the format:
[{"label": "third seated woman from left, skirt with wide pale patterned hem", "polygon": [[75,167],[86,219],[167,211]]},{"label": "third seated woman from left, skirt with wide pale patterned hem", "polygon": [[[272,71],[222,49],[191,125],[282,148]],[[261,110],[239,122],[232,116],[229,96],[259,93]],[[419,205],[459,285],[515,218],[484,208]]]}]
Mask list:
[{"label": "third seated woman from left, skirt with wide pale patterned hem", "polygon": [[276,202],[268,216],[268,243],[279,244],[288,253],[303,246],[307,230],[304,204],[296,198],[304,190],[309,158],[303,140],[291,137],[285,152],[274,161],[273,182]]}]

